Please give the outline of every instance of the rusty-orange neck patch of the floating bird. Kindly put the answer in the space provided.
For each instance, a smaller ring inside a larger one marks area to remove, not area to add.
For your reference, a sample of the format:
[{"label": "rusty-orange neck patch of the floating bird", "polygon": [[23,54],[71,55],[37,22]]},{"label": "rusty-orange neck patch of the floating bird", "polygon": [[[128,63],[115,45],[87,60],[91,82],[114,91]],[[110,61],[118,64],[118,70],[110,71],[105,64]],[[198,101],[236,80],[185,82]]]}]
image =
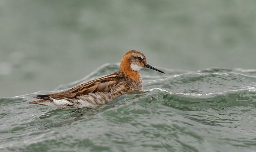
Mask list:
[{"label": "rusty-orange neck patch of the floating bird", "polygon": [[119,71],[123,72],[125,75],[127,75],[134,81],[141,80],[141,75],[140,75],[139,71],[132,70],[131,64],[124,59],[121,61]]}]

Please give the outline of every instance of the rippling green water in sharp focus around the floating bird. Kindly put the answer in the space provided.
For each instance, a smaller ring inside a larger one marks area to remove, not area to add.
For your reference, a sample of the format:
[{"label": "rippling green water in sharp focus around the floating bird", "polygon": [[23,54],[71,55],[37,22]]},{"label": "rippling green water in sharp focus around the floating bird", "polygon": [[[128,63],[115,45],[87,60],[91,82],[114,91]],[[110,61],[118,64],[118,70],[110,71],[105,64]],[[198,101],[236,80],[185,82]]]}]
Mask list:
[{"label": "rippling green water in sharp focus around the floating bird", "polygon": [[145,69],[143,91],[95,109],[27,104],[118,68],[105,64],[54,91],[0,98],[0,150],[255,151],[256,70]]}]

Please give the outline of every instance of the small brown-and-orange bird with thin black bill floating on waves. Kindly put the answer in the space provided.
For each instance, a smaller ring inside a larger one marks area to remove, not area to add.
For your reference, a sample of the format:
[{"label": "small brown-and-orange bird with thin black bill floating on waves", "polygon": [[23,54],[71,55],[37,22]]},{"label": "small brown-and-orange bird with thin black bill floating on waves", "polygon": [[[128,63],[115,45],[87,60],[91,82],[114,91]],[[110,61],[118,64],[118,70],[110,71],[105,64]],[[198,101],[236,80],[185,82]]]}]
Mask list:
[{"label": "small brown-and-orange bird with thin black bill floating on waves", "polygon": [[95,108],[104,105],[128,92],[142,90],[139,71],[142,68],[164,73],[147,63],[143,53],[129,50],[121,60],[120,68],[113,74],[80,84],[68,91],[55,94],[37,95],[40,99],[29,102],[58,109]]}]

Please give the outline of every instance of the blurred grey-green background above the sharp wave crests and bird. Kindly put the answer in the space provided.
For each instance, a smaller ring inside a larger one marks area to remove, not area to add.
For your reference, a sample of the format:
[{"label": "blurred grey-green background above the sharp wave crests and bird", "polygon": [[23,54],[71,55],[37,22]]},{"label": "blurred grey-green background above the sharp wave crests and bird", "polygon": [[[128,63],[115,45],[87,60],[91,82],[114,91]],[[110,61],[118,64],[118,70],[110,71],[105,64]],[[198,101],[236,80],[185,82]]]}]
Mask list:
[{"label": "blurred grey-green background above the sharp wave crests and bird", "polygon": [[0,0],[0,97],[52,90],[140,50],[171,69],[256,67],[255,0]]}]

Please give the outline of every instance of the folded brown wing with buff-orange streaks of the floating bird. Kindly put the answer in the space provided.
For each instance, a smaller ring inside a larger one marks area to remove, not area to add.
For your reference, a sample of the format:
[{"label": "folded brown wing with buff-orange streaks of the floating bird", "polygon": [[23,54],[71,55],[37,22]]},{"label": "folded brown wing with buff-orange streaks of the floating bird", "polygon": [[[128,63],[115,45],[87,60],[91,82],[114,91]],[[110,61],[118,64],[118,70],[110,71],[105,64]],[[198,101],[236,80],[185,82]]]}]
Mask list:
[{"label": "folded brown wing with buff-orange streaks of the floating bird", "polygon": [[[121,83],[121,84],[120,84]],[[46,94],[46,95],[37,95],[34,98],[42,100],[52,100],[52,99],[78,99],[77,97],[81,95],[87,95],[89,93],[95,92],[110,92],[111,87],[116,85],[126,85],[126,82],[121,82],[115,74],[108,75],[96,80],[89,81],[87,83],[78,85],[72,89],[69,89],[65,92],[55,93],[55,94]],[[33,103],[29,102],[29,103]]]}]

